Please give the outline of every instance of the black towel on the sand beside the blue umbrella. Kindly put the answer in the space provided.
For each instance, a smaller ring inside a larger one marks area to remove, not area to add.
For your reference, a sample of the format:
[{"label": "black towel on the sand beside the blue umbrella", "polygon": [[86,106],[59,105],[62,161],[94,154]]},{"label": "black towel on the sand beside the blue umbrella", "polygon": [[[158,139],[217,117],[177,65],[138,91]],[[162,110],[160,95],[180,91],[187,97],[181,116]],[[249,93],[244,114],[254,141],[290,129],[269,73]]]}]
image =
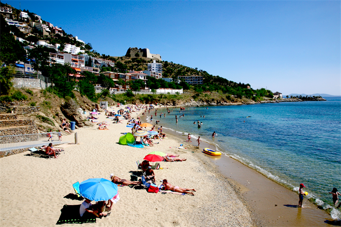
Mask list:
[{"label": "black towel on the sand beside the blue umbrella", "polygon": [[56,224],[82,224],[96,223],[96,217],[86,212],[82,217],[79,216],[79,205],[64,205],[61,210],[61,216]]}]

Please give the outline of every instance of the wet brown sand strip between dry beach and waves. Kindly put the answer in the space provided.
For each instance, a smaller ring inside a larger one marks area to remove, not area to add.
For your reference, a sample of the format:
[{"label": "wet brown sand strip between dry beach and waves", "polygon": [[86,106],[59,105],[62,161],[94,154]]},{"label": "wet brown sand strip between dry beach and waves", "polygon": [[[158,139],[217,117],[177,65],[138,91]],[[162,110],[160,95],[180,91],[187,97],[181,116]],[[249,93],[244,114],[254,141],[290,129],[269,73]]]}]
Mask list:
[{"label": "wet brown sand strip between dry beach and waves", "polygon": [[[186,133],[182,135],[173,129],[166,128],[164,132],[182,140],[182,144],[187,144]],[[196,144],[195,139],[192,144]],[[205,148],[205,144],[206,147],[210,147],[210,149],[213,147],[213,150],[216,150],[215,146],[209,141],[203,141],[201,149]],[[197,150],[202,153],[201,149]],[[298,194],[296,192],[267,178],[239,160],[224,154],[219,157],[202,154],[210,157],[209,160],[218,168],[219,173],[226,178],[230,185],[237,185],[235,187],[236,193],[240,192],[253,219],[262,223],[262,226],[273,226],[274,224],[278,226],[327,226],[328,223],[337,222],[332,220],[325,210],[318,209],[307,198],[303,202],[304,208],[298,208]],[[226,166],[229,167],[226,168]]]}]

